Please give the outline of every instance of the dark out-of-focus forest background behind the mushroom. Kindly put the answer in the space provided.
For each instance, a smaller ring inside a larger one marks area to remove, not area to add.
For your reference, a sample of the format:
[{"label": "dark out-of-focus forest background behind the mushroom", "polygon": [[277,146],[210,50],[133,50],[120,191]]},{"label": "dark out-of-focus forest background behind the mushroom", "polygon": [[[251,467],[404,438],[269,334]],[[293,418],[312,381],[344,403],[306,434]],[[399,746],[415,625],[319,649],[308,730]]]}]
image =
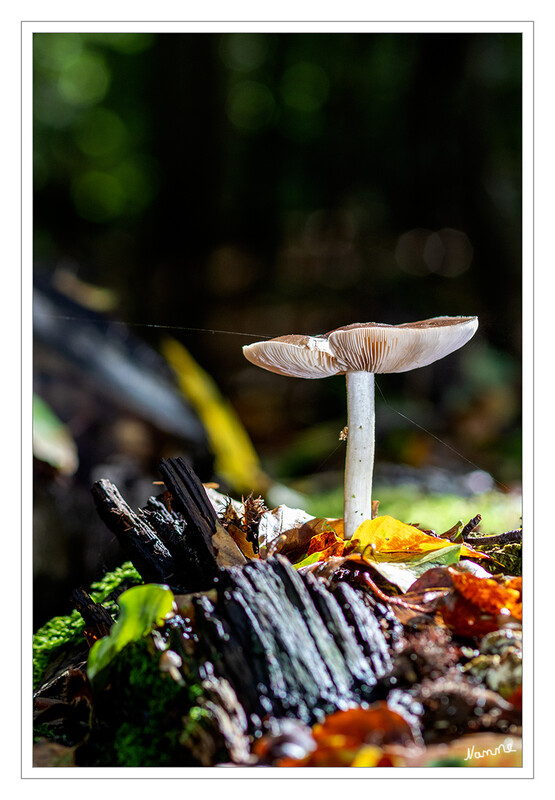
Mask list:
[{"label": "dark out-of-focus forest background behind the mushroom", "polygon": [[[330,516],[344,380],[257,370],[241,346],[477,315],[462,350],[378,377],[376,482],[518,492],[519,34],[40,33],[34,62],[37,275],[116,322],[190,329],[129,327],[155,350],[168,333],[180,340],[271,481],[320,498]],[[85,580],[119,556],[90,521],[88,494],[71,514],[60,497],[88,492],[116,462],[131,491],[137,463],[152,481],[157,459],[187,444],[114,406],[84,414],[92,381],[68,405],[71,372],[56,392],[55,362],[39,343],[36,387],[76,440],[79,468],[63,489],[38,471],[37,552],[53,519],[60,553],[88,530],[86,558],[60,555],[64,575],[77,562]],[[218,479],[209,452],[196,464]]]}]

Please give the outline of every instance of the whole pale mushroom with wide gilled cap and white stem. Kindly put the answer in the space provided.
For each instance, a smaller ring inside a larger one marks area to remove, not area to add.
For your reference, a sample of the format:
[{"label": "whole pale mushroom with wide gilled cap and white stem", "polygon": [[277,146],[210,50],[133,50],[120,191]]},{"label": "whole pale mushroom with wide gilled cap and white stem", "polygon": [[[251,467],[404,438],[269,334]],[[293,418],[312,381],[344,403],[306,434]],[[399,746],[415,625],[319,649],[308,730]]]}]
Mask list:
[{"label": "whole pale mushroom with wide gilled cap and white stem", "polygon": [[357,322],[322,336],[278,336],[243,347],[245,358],[278,375],[347,379],[344,535],[372,518],[374,374],[425,367],[472,338],[477,317],[435,317],[387,325]]}]

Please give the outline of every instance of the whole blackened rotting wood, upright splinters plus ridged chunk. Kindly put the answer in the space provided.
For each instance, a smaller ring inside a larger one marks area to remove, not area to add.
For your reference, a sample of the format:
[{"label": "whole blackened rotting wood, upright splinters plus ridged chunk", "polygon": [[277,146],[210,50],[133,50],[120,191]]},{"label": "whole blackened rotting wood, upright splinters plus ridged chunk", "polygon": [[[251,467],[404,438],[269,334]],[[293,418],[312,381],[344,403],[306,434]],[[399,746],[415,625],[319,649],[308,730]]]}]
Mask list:
[{"label": "whole blackened rotting wood, upright splinters plus ridged chunk", "polygon": [[233,540],[186,462],[165,460],[160,472],[169,499],[150,498],[135,514],[99,481],[97,506],[145,580],[181,593],[217,589],[216,599],[193,601],[197,655],[229,682],[249,719],[312,723],[384,696],[392,666],[387,624],[362,594],[301,576],[283,556],[234,560]]}]

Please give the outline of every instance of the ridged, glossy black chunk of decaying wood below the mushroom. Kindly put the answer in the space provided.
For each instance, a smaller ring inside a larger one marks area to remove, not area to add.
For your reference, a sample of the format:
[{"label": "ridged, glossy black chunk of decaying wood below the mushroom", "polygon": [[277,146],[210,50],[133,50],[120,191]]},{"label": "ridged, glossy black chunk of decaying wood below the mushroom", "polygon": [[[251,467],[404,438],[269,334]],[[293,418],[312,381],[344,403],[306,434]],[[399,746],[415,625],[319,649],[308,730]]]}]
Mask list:
[{"label": "ridged, glossy black chunk of decaying wood below the mushroom", "polygon": [[312,723],[384,696],[391,657],[373,612],[350,586],[329,591],[282,556],[222,570],[218,599],[195,599],[199,653],[250,719]]}]

